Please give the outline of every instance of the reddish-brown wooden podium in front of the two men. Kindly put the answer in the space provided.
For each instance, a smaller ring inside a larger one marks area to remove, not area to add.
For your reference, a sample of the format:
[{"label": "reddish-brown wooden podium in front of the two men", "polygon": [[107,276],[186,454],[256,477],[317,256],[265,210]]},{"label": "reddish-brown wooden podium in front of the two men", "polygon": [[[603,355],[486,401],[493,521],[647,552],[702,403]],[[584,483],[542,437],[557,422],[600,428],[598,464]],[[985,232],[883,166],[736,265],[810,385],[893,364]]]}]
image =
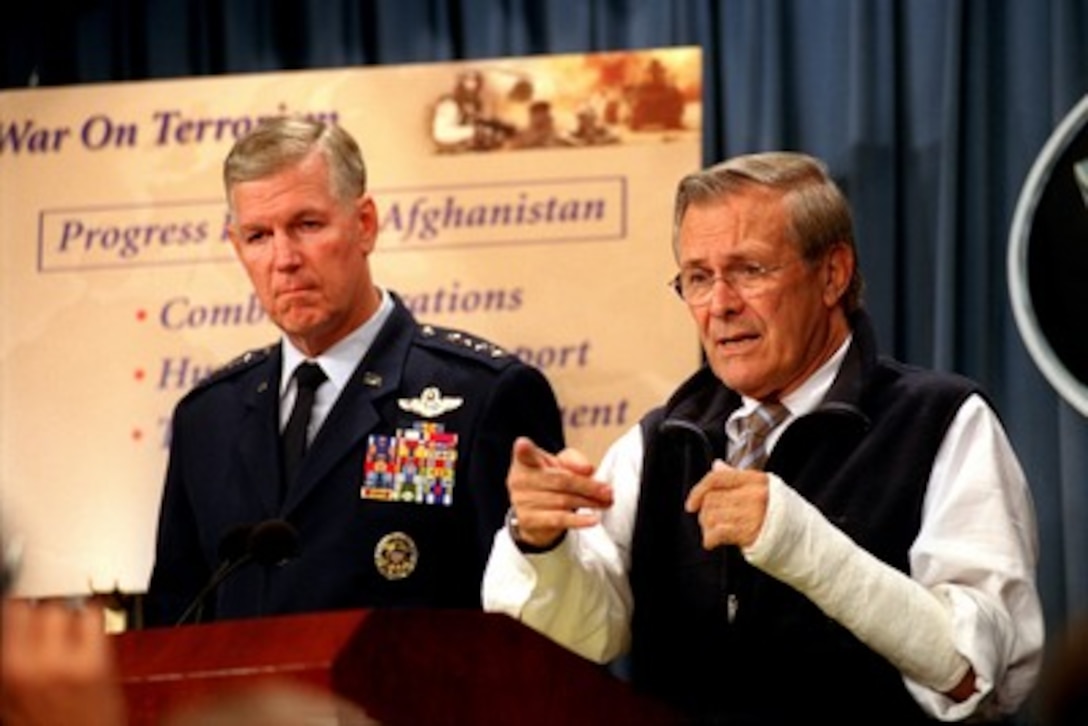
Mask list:
[{"label": "reddish-brown wooden podium in front of the two men", "polygon": [[400,724],[679,724],[602,666],[505,615],[371,610],[113,637],[131,726],[201,697],[287,679]]}]

